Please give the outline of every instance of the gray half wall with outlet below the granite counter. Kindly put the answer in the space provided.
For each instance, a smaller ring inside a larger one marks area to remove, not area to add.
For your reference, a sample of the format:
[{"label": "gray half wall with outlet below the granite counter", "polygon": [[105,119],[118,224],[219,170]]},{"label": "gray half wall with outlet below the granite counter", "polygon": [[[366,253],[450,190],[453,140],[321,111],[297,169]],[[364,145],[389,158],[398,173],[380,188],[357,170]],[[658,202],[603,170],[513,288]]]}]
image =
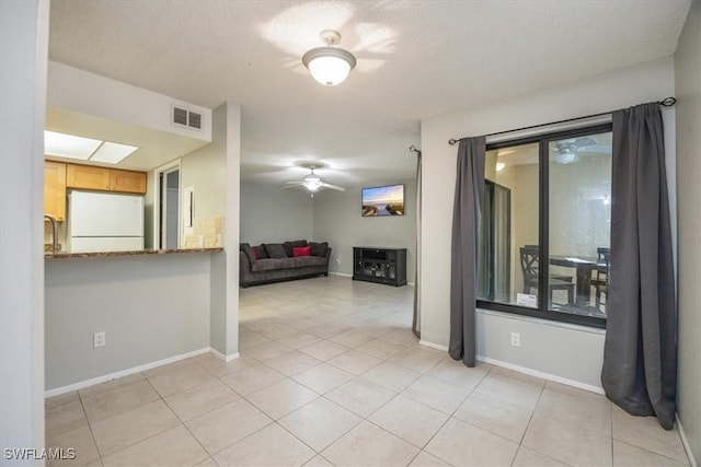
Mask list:
[{"label": "gray half wall with outlet below the granite counter", "polygon": [[209,256],[47,259],[46,389],[208,348]]}]

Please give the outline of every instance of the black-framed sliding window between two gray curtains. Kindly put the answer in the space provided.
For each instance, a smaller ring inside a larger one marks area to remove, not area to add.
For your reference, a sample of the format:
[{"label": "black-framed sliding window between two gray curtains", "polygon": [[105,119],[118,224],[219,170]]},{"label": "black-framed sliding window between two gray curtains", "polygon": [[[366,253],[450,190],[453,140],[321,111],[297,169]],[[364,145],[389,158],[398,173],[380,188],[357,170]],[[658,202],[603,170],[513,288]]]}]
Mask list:
[{"label": "black-framed sliding window between two gray curtains", "polygon": [[611,125],[487,144],[484,172],[478,306],[605,327]]}]

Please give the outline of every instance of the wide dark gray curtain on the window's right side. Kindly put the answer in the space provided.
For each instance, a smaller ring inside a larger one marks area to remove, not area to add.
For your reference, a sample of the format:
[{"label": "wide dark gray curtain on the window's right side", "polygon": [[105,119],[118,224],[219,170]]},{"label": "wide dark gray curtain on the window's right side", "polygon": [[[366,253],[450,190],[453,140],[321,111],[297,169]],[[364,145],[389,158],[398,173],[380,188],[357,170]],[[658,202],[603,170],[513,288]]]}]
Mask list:
[{"label": "wide dark gray curtain on the window's right side", "polygon": [[677,311],[657,103],[613,113],[611,266],[601,383],[635,416],[674,425]]}]

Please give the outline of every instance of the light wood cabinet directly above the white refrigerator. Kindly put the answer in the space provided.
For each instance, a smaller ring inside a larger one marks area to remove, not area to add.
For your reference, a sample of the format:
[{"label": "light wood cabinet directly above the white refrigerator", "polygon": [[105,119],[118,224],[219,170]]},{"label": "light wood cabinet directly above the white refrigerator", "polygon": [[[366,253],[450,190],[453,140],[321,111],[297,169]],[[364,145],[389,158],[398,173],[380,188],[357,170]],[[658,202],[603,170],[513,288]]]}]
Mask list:
[{"label": "light wood cabinet directly above the white refrigerator", "polygon": [[146,172],[67,164],[66,186],[68,188],[143,195],[146,192]]}]

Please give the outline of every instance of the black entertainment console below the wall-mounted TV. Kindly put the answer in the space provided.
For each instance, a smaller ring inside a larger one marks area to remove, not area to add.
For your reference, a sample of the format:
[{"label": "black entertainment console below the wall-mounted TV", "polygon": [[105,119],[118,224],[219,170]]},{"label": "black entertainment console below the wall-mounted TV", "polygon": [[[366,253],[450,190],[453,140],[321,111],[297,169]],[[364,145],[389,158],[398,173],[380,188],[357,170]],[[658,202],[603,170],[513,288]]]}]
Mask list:
[{"label": "black entertainment console below the wall-mounted TV", "polygon": [[353,280],[406,285],[406,248],[353,247]]}]

